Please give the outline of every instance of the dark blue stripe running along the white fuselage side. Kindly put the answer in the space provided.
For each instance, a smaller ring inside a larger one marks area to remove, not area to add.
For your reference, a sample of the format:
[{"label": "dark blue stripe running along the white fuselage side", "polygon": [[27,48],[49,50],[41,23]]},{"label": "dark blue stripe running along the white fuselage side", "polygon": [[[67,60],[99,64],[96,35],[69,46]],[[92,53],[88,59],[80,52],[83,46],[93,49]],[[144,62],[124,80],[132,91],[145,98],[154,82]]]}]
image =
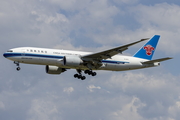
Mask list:
[{"label": "dark blue stripe running along the white fuselage side", "polygon": [[[4,57],[42,57],[42,58],[56,58],[56,59],[62,59],[64,56],[55,56],[55,55],[41,55],[41,54],[31,54],[31,53],[4,53]],[[123,62],[123,61],[113,61],[113,60],[102,60],[103,63],[112,63],[112,64],[125,64],[129,62]]]}]

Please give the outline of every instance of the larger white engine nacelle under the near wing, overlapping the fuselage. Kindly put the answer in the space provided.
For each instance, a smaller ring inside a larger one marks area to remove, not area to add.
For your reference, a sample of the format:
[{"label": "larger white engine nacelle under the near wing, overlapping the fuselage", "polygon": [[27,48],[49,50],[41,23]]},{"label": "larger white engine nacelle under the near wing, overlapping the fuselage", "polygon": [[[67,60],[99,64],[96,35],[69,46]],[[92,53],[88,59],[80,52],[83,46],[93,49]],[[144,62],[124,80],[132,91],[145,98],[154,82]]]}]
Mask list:
[{"label": "larger white engine nacelle under the near wing, overlapping the fuselage", "polygon": [[81,63],[83,61],[78,56],[64,56],[64,65],[66,66],[77,67]]}]

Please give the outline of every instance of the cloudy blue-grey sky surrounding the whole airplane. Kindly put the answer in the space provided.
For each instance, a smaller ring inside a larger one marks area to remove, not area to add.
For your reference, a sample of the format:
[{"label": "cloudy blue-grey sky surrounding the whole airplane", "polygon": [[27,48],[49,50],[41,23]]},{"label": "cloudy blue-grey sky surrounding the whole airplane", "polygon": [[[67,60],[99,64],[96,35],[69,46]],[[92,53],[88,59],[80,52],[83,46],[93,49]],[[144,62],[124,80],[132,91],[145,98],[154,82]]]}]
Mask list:
[{"label": "cloudy blue-grey sky surrounding the whole airplane", "polygon": [[[21,46],[101,51],[161,35],[160,67],[48,75],[45,66],[0,58],[0,119],[178,120],[180,112],[177,0],[8,0],[0,4],[0,53]],[[124,54],[133,55],[144,43]]]}]

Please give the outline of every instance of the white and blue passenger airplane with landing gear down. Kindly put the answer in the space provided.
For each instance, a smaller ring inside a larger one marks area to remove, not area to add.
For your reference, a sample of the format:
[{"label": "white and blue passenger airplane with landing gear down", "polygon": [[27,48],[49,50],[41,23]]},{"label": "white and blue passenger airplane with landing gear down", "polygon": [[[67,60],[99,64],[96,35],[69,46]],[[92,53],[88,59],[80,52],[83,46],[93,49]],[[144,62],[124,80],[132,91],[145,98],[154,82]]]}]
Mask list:
[{"label": "white and blue passenger airplane with landing gear down", "polygon": [[85,80],[84,74],[96,76],[94,70],[126,71],[159,66],[161,61],[171,57],[152,60],[160,35],[154,35],[133,56],[122,55],[128,47],[143,42],[146,39],[108,49],[101,52],[83,52],[37,47],[19,47],[8,50],[3,56],[14,61],[17,71],[20,63],[45,65],[46,73],[61,74],[68,69],[76,69],[74,78]]}]

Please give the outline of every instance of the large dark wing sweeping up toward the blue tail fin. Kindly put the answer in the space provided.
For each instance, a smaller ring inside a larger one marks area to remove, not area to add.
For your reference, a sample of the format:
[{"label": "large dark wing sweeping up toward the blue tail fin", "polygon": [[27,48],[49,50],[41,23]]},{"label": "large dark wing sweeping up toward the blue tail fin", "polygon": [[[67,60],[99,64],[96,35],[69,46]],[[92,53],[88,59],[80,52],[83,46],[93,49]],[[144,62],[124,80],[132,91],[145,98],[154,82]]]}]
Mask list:
[{"label": "large dark wing sweeping up toward the blue tail fin", "polygon": [[96,60],[102,60],[102,59],[108,59],[108,58],[111,58],[112,56],[118,54],[118,53],[122,53],[123,51],[127,50],[128,47],[134,45],[134,44],[137,44],[139,42],[142,42],[142,41],[145,41],[145,40],[148,40],[149,38],[145,38],[145,39],[141,39],[139,41],[136,41],[136,42],[133,42],[133,43],[130,43],[130,44],[127,44],[127,45],[123,45],[123,46],[119,46],[119,47],[116,47],[116,48],[112,48],[112,49],[109,49],[109,50],[105,50],[105,51],[102,51],[102,52],[97,52],[97,53],[93,53],[93,54],[89,54],[89,55],[84,55],[82,56],[83,59],[96,59]]}]

